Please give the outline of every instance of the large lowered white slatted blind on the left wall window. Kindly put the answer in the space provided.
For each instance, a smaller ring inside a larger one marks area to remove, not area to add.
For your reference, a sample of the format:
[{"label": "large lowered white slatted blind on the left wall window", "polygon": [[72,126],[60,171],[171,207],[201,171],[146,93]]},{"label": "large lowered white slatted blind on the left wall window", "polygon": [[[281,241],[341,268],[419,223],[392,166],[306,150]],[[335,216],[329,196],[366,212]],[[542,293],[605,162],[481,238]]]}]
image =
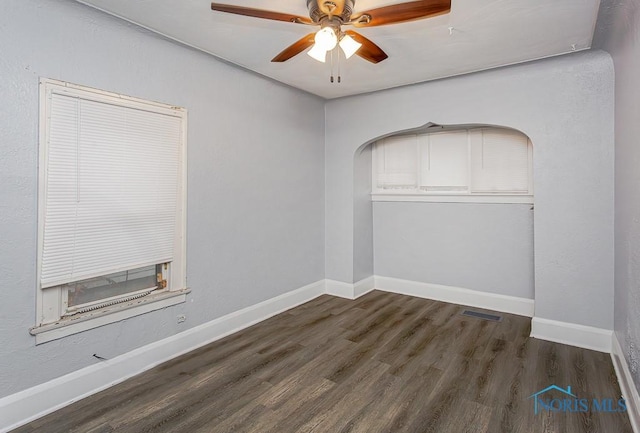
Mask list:
[{"label": "large lowered white slatted blind on the left wall window", "polygon": [[42,288],[172,261],[181,119],[50,98]]}]

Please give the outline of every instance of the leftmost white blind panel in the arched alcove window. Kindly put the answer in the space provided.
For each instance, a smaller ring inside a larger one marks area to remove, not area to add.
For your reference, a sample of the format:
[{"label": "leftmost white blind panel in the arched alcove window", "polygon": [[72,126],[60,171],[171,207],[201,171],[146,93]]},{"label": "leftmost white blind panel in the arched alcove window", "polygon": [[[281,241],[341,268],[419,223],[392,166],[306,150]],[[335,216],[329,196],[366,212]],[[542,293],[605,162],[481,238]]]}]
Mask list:
[{"label": "leftmost white blind panel in the arched alcove window", "polygon": [[390,137],[376,143],[378,188],[415,188],[417,146],[415,135]]}]

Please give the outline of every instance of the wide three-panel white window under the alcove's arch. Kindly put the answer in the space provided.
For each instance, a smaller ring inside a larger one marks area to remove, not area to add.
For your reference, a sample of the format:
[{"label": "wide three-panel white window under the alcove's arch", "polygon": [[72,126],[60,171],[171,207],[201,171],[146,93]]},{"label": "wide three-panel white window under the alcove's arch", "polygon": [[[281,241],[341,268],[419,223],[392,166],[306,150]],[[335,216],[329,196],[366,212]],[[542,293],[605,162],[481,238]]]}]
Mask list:
[{"label": "wide three-panel white window under the alcove's arch", "polygon": [[391,136],[373,145],[373,200],[531,203],[532,146],[513,130]]}]

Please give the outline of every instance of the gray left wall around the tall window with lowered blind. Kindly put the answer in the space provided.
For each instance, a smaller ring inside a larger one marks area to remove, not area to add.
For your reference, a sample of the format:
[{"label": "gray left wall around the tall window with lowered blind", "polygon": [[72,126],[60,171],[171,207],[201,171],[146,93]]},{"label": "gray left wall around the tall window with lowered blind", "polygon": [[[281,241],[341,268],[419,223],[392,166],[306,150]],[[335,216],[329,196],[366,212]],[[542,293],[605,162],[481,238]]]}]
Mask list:
[{"label": "gray left wall around the tall window with lowered blind", "polygon": [[[1,9],[0,397],[324,278],[322,100],[70,0]],[[192,293],[36,347],[41,76],[188,109]]]}]

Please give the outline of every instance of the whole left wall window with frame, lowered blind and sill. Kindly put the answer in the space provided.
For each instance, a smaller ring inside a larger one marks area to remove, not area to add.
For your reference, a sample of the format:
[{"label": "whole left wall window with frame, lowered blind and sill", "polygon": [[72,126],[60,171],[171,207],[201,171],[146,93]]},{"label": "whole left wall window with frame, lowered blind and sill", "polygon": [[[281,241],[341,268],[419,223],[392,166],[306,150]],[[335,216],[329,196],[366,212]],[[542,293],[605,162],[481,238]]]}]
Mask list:
[{"label": "whole left wall window with frame, lowered blind and sill", "polygon": [[36,342],[183,302],[185,110],[40,86]]}]

